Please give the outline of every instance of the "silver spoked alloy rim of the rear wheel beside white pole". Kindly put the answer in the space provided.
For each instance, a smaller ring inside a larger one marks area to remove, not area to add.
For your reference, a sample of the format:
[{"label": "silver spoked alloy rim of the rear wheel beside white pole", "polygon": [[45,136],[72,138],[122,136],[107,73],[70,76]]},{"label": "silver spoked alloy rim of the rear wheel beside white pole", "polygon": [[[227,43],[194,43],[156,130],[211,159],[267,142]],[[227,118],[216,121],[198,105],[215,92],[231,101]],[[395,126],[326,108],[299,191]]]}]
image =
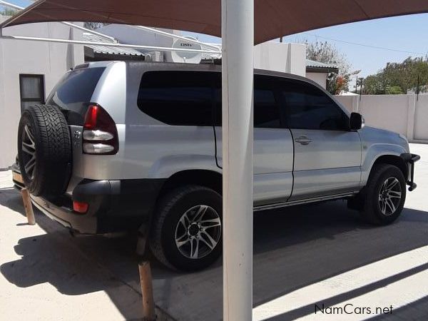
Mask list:
[{"label": "silver spoked alloy rim of the rear wheel beside white pole", "polygon": [[220,215],[208,205],[196,205],[185,211],[175,227],[175,245],[190,259],[200,259],[211,253],[220,237]]}]

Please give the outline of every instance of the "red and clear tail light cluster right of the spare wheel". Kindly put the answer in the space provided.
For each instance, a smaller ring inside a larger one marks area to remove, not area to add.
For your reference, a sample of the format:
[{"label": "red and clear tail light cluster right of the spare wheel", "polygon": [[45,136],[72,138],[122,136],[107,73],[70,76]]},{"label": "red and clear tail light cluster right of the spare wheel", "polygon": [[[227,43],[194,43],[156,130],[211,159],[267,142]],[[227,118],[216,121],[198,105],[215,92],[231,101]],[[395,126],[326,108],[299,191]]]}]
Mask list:
[{"label": "red and clear tail light cluster right of the spare wheel", "polygon": [[88,107],[82,137],[83,153],[113,155],[119,150],[116,123],[101,106],[92,104]]}]

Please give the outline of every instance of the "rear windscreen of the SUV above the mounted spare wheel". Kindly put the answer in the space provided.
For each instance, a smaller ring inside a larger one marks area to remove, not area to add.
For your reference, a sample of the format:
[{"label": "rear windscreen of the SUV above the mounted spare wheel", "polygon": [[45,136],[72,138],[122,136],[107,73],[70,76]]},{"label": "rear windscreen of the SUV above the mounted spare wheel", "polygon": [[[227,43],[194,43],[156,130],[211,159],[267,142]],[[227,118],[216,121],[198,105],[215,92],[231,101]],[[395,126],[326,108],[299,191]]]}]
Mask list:
[{"label": "rear windscreen of the SUV above the mounted spare wheel", "polygon": [[56,84],[46,103],[63,109],[70,125],[82,125],[88,103],[105,67],[69,71]]}]

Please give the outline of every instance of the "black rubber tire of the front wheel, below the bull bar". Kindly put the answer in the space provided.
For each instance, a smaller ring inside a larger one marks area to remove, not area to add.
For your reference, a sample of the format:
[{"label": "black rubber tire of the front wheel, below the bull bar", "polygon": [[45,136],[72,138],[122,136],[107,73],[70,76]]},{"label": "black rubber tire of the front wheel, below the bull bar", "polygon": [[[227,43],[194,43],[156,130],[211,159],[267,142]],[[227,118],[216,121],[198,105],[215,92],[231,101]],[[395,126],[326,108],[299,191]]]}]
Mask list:
[{"label": "black rubber tire of the front wheel, below the bull bar", "polygon": [[[381,193],[382,186],[387,180],[394,182],[394,179],[398,180],[395,184],[395,188],[399,189],[399,193],[401,193],[401,195],[399,200],[397,197],[393,199],[393,202],[395,203],[392,205],[384,205],[384,211],[386,211],[386,213],[383,213],[382,206],[386,203],[380,200],[379,196],[384,198],[384,195],[387,195],[387,193]],[[406,181],[402,171],[394,165],[374,165],[364,193],[365,200],[362,205],[362,218],[375,225],[387,225],[394,222],[394,220],[397,220],[399,215],[402,213],[404,202],[406,200]],[[394,208],[394,210],[392,210],[392,208]]]}]

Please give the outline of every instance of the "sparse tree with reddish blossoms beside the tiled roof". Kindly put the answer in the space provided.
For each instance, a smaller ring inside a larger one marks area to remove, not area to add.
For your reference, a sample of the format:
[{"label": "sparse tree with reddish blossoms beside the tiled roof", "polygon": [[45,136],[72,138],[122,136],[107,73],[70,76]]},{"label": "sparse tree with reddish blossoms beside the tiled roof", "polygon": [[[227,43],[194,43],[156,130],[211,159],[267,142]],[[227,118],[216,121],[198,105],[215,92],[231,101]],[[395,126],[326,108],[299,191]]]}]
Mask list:
[{"label": "sparse tree with reddish blossoms beside the tiled roof", "polygon": [[360,71],[352,71],[352,66],[345,54],[342,54],[335,45],[327,41],[305,41],[306,58],[322,63],[328,63],[339,69],[339,72],[330,73],[327,79],[327,90],[332,94],[349,91],[349,82],[352,75]]}]

